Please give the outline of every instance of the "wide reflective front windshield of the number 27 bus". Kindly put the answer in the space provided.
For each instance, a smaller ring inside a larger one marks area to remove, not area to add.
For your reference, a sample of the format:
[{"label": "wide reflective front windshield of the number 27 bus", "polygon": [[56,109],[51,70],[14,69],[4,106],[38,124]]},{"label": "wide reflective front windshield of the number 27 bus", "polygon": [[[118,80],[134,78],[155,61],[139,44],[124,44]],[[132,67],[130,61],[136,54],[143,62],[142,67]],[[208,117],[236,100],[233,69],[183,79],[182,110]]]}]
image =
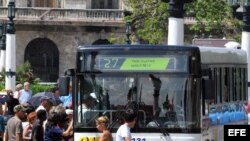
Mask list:
[{"label": "wide reflective front windshield of the number 27 bus", "polygon": [[[127,108],[137,109],[136,130],[197,129],[200,125],[199,97],[194,97],[198,80],[188,75],[88,74],[78,77],[75,127],[95,128],[95,119],[106,115],[110,128],[121,124]],[[192,88],[191,88],[192,87]],[[192,91],[191,91],[192,90]]]}]

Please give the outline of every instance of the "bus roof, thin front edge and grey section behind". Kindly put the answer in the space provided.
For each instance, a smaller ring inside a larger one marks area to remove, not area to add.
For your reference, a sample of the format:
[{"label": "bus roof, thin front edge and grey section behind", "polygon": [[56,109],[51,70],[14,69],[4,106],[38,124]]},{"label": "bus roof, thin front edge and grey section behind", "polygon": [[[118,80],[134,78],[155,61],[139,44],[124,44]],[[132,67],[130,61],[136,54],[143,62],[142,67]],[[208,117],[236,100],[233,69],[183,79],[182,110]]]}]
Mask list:
[{"label": "bus roof, thin front edge and grey section behind", "polygon": [[198,51],[200,50],[201,62],[204,63],[233,63],[246,64],[247,54],[241,49],[206,46],[181,46],[181,45],[84,45],[78,51],[85,50],[165,50],[165,51]]}]

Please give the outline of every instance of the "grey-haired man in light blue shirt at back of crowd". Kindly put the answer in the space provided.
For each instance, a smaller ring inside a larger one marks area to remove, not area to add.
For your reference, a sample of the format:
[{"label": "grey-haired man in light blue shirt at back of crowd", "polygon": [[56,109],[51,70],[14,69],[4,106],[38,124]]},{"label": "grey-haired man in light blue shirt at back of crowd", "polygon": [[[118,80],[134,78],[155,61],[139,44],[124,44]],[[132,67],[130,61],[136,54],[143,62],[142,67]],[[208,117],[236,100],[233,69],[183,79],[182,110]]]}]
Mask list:
[{"label": "grey-haired man in light blue shirt at back of crowd", "polygon": [[32,91],[30,90],[30,83],[24,82],[23,89],[20,91],[19,102],[20,104],[27,105],[27,102],[31,99]]}]

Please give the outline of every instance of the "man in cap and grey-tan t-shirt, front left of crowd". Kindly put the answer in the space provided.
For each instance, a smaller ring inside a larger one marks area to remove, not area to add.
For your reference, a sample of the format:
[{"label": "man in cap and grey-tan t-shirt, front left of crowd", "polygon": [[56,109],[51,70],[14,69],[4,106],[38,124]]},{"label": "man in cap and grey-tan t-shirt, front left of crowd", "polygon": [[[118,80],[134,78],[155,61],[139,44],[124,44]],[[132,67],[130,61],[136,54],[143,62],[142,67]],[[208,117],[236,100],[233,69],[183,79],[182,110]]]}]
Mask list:
[{"label": "man in cap and grey-tan t-shirt, front left of crowd", "polygon": [[23,105],[16,105],[14,107],[15,116],[10,118],[7,122],[5,141],[23,140],[22,119],[25,118],[25,110],[26,108]]}]

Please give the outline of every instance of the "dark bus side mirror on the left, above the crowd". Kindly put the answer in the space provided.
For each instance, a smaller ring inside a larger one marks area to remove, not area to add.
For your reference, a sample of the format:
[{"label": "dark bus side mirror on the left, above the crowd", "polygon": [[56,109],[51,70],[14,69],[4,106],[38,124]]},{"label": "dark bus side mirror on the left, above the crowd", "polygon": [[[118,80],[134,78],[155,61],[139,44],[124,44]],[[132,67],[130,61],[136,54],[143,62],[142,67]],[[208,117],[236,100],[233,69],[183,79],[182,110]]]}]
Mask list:
[{"label": "dark bus side mirror on the left, above the crowd", "polygon": [[69,94],[69,76],[59,77],[59,92],[61,96],[67,96]]}]

